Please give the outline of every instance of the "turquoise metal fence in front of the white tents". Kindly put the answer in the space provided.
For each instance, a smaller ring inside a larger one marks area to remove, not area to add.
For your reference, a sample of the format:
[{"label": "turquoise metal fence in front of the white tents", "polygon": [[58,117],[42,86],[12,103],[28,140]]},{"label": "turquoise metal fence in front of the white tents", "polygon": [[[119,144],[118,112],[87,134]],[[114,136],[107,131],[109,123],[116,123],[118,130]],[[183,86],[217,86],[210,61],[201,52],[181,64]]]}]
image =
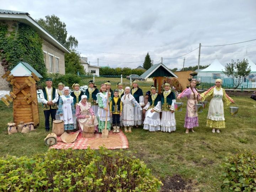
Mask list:
[{"label": "turquoise metal fence in front of the white tents", "polygon": [[[231,78],[213,78],[213,77],[198,77],[195,76],[195,79],[197,79],[201,83],[201,88],[209,88],[210,86],[215,85],[215,80],[216,79],[221,79],[222,80],[222,87],[226,89],[233,89],[234,87],[234,81]],[[235,84],[238,82],[238,79],[235,79]],[[252,85],[251,80],[244,80],[241,85],[238,86],[238,89],[251,89],[254,88]]]}]

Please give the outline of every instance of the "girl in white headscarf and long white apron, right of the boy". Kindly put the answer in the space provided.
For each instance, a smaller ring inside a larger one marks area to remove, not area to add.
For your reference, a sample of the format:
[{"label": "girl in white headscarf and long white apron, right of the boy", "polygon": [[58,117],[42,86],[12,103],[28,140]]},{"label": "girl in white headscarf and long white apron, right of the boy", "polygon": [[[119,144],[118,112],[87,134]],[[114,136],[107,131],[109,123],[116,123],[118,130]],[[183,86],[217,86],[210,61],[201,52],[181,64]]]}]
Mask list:
[{"label": "girl in white headscarf and long white apron, right of the boy", "polygon": [[[132,126],[134,126],[134,109],[138,108],[141,111],[139,103],[130,94],[130,87],[125,88],[125,94],[122,96],[121,101],[123,102],[123,126],[124,132],[132,133]],[[127,129],[128,127],[128,129]]]}]

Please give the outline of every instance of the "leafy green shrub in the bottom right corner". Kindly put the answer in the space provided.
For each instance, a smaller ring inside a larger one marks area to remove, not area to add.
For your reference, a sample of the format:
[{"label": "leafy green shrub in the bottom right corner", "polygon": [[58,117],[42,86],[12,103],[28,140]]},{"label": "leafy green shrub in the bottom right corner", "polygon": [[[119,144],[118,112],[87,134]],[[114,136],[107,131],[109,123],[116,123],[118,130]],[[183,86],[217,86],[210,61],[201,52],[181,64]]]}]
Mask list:
[{"label": "leafy green shrub in the bottom right corner", "polygon": [[224,191],[256,191],[256,154],[252,151],[228,156],[222,167]]}]

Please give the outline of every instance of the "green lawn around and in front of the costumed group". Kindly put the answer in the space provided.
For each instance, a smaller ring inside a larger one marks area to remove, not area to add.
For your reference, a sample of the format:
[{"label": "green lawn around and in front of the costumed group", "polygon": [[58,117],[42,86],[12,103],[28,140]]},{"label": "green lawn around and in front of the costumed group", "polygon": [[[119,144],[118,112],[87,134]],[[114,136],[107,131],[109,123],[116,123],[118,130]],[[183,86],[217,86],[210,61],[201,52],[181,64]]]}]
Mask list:
[{"label": "green lawn around and in front of the costumed group", "polygon": [[[112,81],[111,81],[112,82]],[[145,93],[149,87],[142,86]],[[199,127],[195,133],[185,134],[185,107],[176,112],[177,130],[175,133],[148,132],[141,128],[133,128],[127,133],[129,150],[143,160],[153,174],[165,180],[168,176],[180,175],[191,185],[191,191],[220,191],[220,164],[224,157],[236,154],[240,150],[256,151],[256,110],[255,101],[249,97],[233,97],[239,105],[237,116],[229,114],[224,107],[226,128],[212,133],[206,127],[208,108],[199,113]],[[182,99],[186,104],[186,99]],[[44,115],[39,105],[40,126],[29,134],[7,134],[6,124],[12,120],[12,107],[7,108],[0,102],[0,156],[33,155],[44,153],[48,147],[44,145],[47,133],[44,131]]]}]

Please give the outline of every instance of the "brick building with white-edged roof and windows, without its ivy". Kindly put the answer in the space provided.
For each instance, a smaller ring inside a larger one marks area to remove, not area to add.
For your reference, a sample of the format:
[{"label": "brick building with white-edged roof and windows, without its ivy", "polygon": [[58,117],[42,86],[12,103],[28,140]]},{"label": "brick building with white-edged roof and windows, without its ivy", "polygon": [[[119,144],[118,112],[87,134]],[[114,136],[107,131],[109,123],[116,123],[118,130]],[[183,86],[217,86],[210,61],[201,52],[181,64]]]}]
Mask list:
[{"label": "brick building with white-edged roof and windows, without its ivy", "polygon": [[[4,23],[8,26],[9,34],[14,30],[18,30],[18,23],[24,23],[30,26],[43,40],[42,50],[47,73],[65,74],[64,54],[70,53],[69,50],[50,33],[44,30],[27,12],[0,9],[0,23]],[[0,63],[0,77],[3,74],[5,74],[4,67]],[[9,82],[0,78],[0,90],[9,89]]]}]

